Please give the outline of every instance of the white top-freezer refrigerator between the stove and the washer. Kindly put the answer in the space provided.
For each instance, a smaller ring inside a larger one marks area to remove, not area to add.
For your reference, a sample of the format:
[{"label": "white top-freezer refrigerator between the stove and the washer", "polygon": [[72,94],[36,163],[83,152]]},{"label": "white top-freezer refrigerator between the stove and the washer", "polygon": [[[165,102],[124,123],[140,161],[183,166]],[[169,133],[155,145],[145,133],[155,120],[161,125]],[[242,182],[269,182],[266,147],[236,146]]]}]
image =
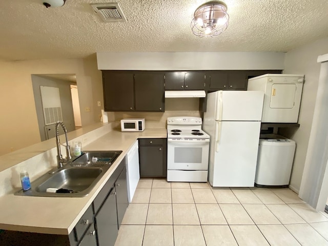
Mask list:
[{"label": "white top-freezer refrigerator between the stove and the washer", "polygon": [[203,130],[211,137],[211,186],[254,187],[263,98],[262,91],[208,93]]}]

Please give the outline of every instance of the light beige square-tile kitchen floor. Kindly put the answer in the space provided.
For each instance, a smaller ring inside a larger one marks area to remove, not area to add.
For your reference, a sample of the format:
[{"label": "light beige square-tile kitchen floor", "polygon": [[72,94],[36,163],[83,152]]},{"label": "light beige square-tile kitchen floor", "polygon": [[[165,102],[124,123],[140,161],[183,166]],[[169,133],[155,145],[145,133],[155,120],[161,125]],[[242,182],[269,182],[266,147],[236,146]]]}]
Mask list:
[{"label": "light beige square-tile kitchen floor", "polygon": [[140,179],[115,246],[328,246],[328,214],[290,189]]}]

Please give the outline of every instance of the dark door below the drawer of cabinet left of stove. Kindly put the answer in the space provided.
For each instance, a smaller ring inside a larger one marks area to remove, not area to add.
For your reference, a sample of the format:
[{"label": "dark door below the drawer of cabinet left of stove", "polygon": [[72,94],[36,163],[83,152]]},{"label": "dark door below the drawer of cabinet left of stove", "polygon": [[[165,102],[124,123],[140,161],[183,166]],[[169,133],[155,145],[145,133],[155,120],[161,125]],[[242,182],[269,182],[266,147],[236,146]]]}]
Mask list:
[{"label": "dark door below the drawer of cabinet left of stove", "polygon": [[162,146],[140,146],[140,177],[166,177]]}]

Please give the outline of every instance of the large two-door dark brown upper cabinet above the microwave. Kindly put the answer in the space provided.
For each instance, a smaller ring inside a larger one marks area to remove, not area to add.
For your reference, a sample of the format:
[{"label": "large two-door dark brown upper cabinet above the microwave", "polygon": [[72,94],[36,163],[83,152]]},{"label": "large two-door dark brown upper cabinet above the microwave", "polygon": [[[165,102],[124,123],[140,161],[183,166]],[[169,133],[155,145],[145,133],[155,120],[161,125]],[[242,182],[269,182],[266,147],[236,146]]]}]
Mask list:
[{"label": "large two-door dark brown upper cabinet above the microwave", "polygon": [[105,111],[164,112],[164,73],[103,71]]}]

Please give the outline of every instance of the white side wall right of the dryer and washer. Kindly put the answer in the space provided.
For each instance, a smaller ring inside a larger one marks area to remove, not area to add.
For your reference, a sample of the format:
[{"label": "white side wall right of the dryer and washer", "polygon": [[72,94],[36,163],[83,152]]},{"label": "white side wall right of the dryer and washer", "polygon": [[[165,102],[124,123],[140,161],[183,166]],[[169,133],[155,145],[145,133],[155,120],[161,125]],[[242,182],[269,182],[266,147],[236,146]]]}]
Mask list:
[{"label": "white side wall right of the dryer and washer", "polygon": [[312,118],[316,101],[320,64],[317,63],[318,55],[328,53],[328,38],[317,40],[314,43],[289,51],[285,55],[283,73],[304,74],[302,101],[298,123],[299,129],[285,129],[279,131],[296,141],[294,165],[290,187],[297,193],[301,185],[306,151],[312,126]]}]

